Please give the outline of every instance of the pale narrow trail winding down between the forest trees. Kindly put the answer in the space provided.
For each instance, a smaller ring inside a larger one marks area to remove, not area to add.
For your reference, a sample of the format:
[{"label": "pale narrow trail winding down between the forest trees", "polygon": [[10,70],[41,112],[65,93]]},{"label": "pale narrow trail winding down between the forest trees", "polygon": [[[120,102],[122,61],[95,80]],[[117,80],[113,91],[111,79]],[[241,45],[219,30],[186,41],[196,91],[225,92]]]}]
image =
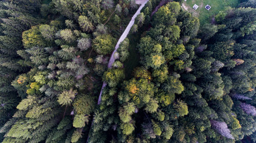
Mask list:
[{"label": "pale narrow trail winding down between the forest trees", "polygon": [[[123,34],[121,35],[121,37],[119,38],[119,40],[117,41],[117,44],[115,46],[115,50],[112,52],[111,57],[110,57],[110,61],[108,64],[108,68],[111,69],[112,68],[112,64],[115,62],[115,58],[114,58],[114,53],[117,51],[117,49],[119,48],[119,44],[127,37],[127,35],[129,34],[134,22],[135,22],[135,18],[137,17],[137,15],[140,14],[141,9],[145,6],[145,4],[148,2],[148,0],[137,0],[136,4],[140,5],[139,9],[136,11],[136,13],[133,15],[131,21],[129,22],[129,24],[127,25],[127,27],[125,28]],[[101,102],[101,94],[103,89],[106,86],[106,82],[104,81],[101,87],[101,91],[99,94],[99,98],[98,98],[98,105]]]}]

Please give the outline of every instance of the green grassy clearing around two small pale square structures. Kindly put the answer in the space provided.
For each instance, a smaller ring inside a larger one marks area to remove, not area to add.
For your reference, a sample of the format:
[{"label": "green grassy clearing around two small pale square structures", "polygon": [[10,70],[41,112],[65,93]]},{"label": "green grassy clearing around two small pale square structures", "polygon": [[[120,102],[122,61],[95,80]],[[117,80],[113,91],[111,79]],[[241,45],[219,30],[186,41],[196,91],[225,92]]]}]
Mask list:
[{"label": "green grassy clearing around two small pale square structures", "polygon": [[[237,7],[239,0],[187,0],[183,4],[189,12],[200,19],[200,24],[205,24],[210,21],[212,16],[224,10],[225,7]],[[197,10],[193,9],[195,4],[199,6]],[[211,7],[209,11],[204,8],[206,5]]]}]

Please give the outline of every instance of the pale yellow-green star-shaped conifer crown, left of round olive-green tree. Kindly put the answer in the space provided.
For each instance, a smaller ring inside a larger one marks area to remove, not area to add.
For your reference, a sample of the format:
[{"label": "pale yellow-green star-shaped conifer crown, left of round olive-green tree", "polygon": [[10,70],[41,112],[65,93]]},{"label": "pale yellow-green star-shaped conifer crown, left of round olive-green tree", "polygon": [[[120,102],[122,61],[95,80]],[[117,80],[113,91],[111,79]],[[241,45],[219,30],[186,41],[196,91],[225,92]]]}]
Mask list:
[{"label": "pale yellow-green star-shaped conifer crown, left of round olive-green tree", "polygon": [[60,105],[70,105],[77,94],[76,90],[70,89],[69,91],[63,91],[58,95],[58,102]]}]

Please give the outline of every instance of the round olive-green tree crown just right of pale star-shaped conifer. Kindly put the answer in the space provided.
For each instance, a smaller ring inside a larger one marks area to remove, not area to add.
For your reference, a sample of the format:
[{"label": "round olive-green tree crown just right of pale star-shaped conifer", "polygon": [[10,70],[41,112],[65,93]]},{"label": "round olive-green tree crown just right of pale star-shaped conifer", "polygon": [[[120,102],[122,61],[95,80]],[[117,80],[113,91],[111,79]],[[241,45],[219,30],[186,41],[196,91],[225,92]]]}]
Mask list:
[{"label": "round olive-green tree crown just right of pale star-shaped conifer", "polygon": [[74,102],[73,106],[77,114],[90,115],[94,110],[96,105],[95,100],[90,95],[78,95]]}]

